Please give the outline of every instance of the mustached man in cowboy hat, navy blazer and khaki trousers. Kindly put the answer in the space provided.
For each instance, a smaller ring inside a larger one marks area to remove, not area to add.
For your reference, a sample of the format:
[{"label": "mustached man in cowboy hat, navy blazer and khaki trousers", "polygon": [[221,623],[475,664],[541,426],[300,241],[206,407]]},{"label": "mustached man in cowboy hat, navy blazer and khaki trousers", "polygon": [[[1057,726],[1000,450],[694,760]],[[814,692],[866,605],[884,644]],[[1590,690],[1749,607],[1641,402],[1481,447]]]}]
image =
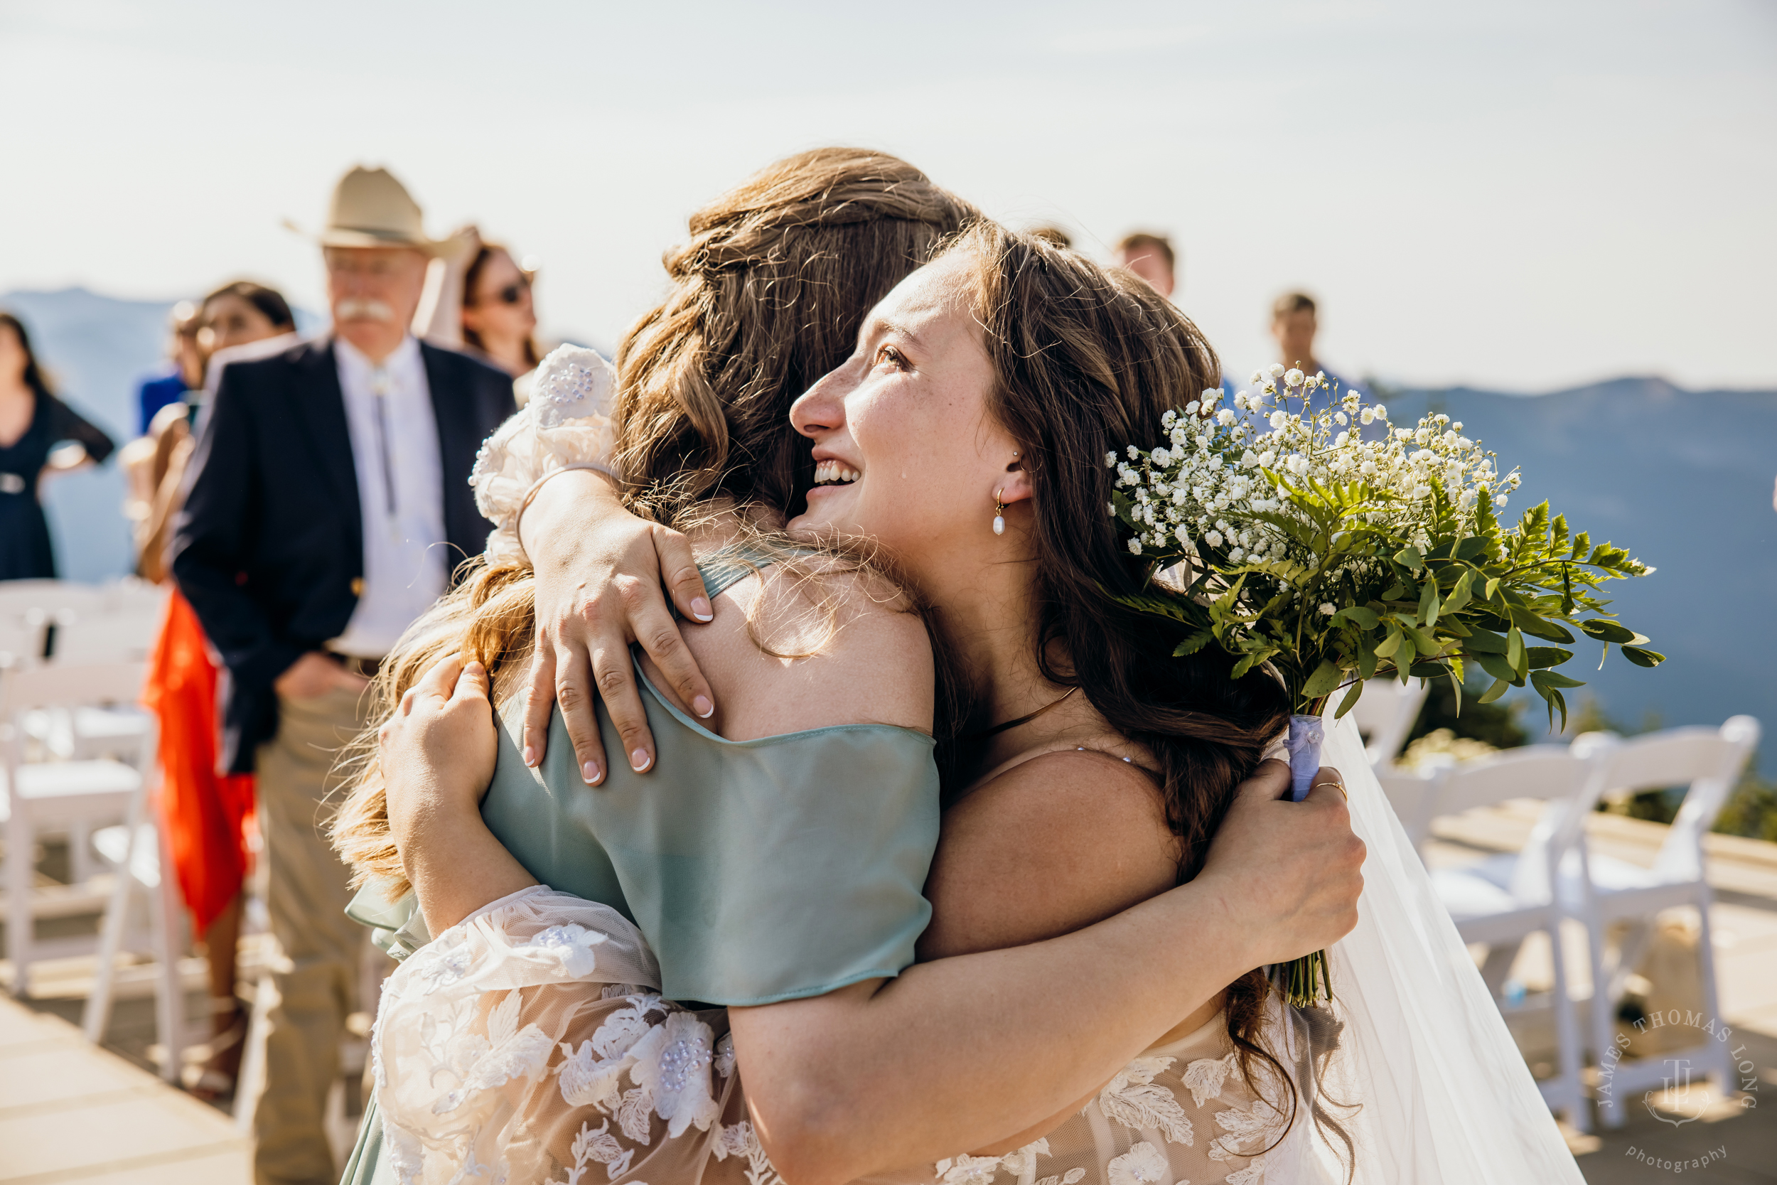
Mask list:
[{"label": "mustached man in cowboy hat, navy blazer and khaki trousers", "polygon": [[332,1185],[322,1112],[357,1000],[363,927],[327,846],[334,757],[402,631],[480,554],[469,471],[512,380],[409,332],[432,240],[382,169],[352,169],[320,235],[334,329],[222,382],[192,458],[172,574],[229,670],[224,760],[258,771],[281,947],[254,1176]]}]

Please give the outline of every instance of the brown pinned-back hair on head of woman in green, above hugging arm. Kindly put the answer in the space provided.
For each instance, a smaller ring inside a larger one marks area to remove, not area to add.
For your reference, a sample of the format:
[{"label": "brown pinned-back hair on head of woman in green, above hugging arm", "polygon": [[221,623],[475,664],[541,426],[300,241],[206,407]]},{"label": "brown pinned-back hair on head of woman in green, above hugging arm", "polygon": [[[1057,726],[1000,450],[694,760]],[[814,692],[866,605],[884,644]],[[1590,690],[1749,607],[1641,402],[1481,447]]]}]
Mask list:
[{"label": "brown pinned-back hair on head of woman in green, above hugging arm", "polygon": [[864,314],[979,213],[913,165],[817,147],[691,215],[672,295],[617,350],[615,469],[659,521],[714,494],[785,515],[814,483],[789,407]]}]

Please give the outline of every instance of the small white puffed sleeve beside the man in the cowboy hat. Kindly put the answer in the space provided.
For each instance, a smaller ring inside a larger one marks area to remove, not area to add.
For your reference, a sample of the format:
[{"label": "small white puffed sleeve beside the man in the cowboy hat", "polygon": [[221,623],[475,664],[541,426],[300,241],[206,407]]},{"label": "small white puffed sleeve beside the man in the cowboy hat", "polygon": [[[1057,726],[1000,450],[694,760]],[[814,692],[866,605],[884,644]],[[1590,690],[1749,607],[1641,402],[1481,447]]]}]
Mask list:
[{"label": "small white puffed sleeve beside the man in the cowboy hat", "polygon": [[556,346],[535,371],[530,402],[482,444],[469,485],[494,522],[489,563],[530,563],[519,512],[537,481],[569,467],[610,473],[615,378],[594,350]]}]

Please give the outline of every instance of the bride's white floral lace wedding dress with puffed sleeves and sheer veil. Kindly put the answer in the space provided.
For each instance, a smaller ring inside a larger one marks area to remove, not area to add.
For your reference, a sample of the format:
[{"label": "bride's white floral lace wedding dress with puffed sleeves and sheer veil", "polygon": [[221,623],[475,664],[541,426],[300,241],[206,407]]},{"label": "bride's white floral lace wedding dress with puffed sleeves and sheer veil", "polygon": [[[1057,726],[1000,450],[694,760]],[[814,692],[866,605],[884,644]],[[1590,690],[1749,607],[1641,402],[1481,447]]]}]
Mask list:
[{"label": "bride's white floral lace wedding dress with puffed sleeves and sheer veil", "polygon": [[[515,524],[535,481],[608,457],[602,359],[563,346],[533,391],[476,460],[476,499],[498,524],[490,558],[522,560]],[[1324,764],[1345,775],[1352,826],[1368,846],[1359,924],[1329,952],[1327,1011],[1340,1034],[1319,1096],[1351,1141],[1349,1162],[1306,1117],[1285,1123],[1267,1103],[1287,1098],[1281,1084],[1262,1082],[1260,1098],[1230,1071],[1217,1020],[1146,1050],[1018,1153],[956,1155],[881,1180],[1276,1185],[1349,1173],[1361,1185],[1583,1185],[1352,721],[1327,721]],[[391,977],[377,1020],[379,1105],[394,1153],[384,1169],[402,1165],[403,1181],[503,1165],[492,1180],[670,1185],[729,1174],[773,1185],[723,1013],[652,995],[650,966],[641,934],[613,910],[540,888],[419,949]],[[1274,1016],[1267,1045],[1299,1066],[1310,1041],[1299,1025],[1283,1029]],[[1301,1075],[1297,1084],[1315,1089]]]}]

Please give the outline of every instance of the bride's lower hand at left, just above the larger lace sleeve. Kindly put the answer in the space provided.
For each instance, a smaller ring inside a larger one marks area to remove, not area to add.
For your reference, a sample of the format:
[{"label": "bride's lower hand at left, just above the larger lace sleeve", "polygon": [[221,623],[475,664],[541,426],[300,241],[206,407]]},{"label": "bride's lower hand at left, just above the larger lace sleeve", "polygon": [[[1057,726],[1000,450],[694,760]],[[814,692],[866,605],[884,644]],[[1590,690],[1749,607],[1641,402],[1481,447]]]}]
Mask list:
[{"label": "bride's lower hand at left, just above the larger lace sleeve", "polygon": [[428,828],[467,815],[480,823],[498,753],[485,666],[451,656],[407,689],[377,730],[389,830],[403,856]]}]

